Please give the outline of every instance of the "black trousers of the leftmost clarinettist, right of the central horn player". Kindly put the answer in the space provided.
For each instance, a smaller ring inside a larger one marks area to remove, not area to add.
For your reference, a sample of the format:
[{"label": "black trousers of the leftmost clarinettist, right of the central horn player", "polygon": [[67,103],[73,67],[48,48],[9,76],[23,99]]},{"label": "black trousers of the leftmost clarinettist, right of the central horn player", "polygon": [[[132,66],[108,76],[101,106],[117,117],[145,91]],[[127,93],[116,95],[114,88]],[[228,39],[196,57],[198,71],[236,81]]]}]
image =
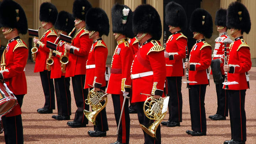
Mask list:
[{"label": "black trousers of the leftmost clarinettist, right of the central horn player", "polygon": [[182,76],[171,76],[167,78],[169,121],[182,122]]}]

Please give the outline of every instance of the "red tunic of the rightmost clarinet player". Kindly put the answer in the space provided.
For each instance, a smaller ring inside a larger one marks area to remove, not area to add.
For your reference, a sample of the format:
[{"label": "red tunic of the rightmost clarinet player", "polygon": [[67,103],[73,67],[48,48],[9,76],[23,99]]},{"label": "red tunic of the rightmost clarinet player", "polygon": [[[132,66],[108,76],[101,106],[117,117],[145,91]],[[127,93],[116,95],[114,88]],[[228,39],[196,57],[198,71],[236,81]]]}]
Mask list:
[{"label": "red tunic of the rightmost clarinet player", "polygon": [[[248,89],[245,72],[251,69],[250,47],[244,39],[239,39],[230,44],[228,65],[228,81],[237,81],[239,84],[229,85],[229,90]],[[225,88],[225,85],[224,87]]]}]

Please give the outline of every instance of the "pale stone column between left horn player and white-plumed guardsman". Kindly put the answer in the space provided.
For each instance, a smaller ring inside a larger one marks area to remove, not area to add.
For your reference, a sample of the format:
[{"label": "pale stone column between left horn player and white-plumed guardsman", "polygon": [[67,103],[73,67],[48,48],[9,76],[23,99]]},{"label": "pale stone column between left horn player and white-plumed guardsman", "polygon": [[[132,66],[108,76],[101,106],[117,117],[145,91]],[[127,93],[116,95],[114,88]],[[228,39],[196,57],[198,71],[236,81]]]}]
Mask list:
[{"label": "pale stone column between left horn player and white-plumed guardsman", "polygon": [[112,20],[111,20],[111,8],[114,5],[114,0],[100,0],[100,8],[103,9],[107,16],[110,23],[110,33],[108,34],[108,37],[103,35],[102,39],[106,43],[108,47],[108,58],[107,58],[107,64],[111,63],[112,55],[114,54],[115,50],[115,41],[114,36],[112,32]]}]

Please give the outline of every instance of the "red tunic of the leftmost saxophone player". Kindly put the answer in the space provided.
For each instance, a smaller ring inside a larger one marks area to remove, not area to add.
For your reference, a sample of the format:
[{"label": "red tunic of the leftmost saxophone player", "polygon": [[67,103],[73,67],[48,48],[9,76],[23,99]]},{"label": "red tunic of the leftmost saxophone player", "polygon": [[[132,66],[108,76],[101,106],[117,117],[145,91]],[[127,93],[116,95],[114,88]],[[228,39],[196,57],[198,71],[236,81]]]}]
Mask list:
[{"label": "red tunic of the leftmost saxophone player", "polygon": [[52,43],[55,42],[57,38],[57,33],[53,28],[50,28],[44,32],[40,41],[37,42],[38,52],[36,53],[36,64],[34,68],[34,73],[41,72],[46,69],[46,60],[49,58],[49,48],[46,47],[46,41],[50,41]]}]

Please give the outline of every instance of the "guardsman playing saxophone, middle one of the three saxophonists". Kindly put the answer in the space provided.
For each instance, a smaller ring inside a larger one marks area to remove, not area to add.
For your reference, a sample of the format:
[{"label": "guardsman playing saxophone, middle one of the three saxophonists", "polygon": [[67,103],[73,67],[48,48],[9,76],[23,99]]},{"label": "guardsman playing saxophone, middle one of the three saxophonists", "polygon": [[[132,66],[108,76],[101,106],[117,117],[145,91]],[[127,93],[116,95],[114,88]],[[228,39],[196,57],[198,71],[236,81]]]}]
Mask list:
[{"label": "guardsman playing saxophone, middle one of the three saxophonists", "polygon": [[[68,35],[74,28],[74,18],[73,16],[66,12],[60,11],[55,22],[55,29],[58,35],[65,34]],[[71,33],[74,36],[75,32]],[[65,41],[56,41],[57,44],[56,51],[53,50],[53,60],[51,79],[54,79],[55,93],[57,100],[58,115],[53,115],[52,118],[58,120],[69,120],[71,115],[71,94],[69,90],[70,77],[65,78],[65,72],[62,70],[62,64],[60,63],[60,56],[64,55]],[[61,55],[58,55],[61,54]],[[63,67],[64,68],[64,67]]]}]

